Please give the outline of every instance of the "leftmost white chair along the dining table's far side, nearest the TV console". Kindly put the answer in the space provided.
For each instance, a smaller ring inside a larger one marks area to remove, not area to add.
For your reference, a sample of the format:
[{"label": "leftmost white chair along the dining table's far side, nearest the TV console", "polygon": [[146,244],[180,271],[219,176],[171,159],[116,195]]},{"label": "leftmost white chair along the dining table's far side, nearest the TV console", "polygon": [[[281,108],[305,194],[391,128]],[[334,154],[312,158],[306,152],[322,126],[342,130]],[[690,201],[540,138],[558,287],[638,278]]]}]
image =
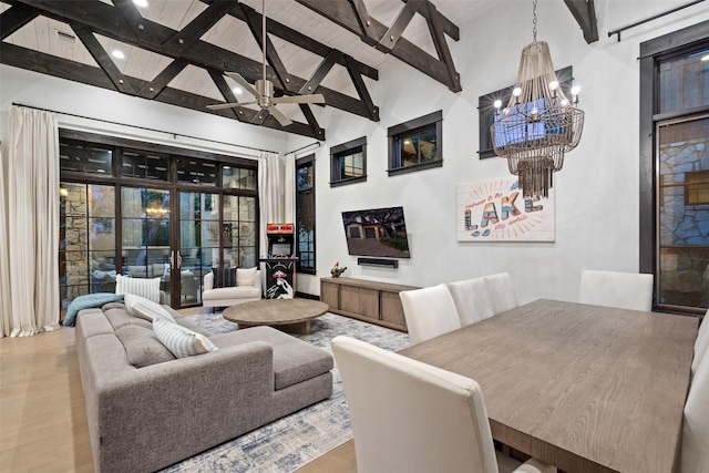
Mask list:
[{"label": "leftmost white chair along the dining table's far side, nearest the TV console", "polygon": [[411,345],[460,329],[455,302],[448,286],[424,287],[399,292]]}]

